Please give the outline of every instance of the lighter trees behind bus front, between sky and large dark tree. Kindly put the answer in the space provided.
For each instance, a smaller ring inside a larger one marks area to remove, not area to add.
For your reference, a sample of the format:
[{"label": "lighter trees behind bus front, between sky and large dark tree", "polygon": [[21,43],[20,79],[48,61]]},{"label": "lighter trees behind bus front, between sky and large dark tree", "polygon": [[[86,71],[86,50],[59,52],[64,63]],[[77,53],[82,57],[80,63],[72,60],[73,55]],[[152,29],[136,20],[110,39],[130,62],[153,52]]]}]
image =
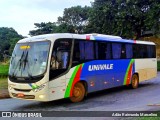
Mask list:
[{"label": "lighter trees behind bus front, between sky and large dark tree", "polygon": [[71,7],[64,9],[62,17],[57,22],[35,23],[36,30],[31,30],[31,36],[48,33],[83,33],[88,22],[90,7]]}]

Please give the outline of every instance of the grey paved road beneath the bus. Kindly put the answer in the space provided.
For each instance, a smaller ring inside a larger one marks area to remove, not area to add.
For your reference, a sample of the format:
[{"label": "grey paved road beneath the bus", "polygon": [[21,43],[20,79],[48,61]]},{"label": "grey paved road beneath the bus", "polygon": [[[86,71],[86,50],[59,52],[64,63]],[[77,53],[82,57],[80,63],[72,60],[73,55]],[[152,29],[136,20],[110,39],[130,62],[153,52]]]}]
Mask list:
[{"label": "grey paved road beneath the bus", "polygon": [[[155,105],[156,104],[156,105]],[[149,111],[160,110],[160,72],[138,89],[119,87],[89,94],[80,103],[68,100],[35,102],[18,99],[0,100],[0,111]]]}]

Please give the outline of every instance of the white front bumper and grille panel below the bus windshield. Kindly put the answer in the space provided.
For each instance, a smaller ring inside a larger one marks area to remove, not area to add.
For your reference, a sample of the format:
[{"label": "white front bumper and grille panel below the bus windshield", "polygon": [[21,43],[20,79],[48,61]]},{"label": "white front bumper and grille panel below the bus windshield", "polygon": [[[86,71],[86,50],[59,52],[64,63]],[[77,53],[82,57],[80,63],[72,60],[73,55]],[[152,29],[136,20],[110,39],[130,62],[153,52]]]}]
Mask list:
[{"label": "white front bumper and grille panel below the bus windshield", "polygon": [[[16,83],[8,80],[9,94],[18,99],[49,101],[46,77],[36,83]],[[18,96],[19,94],[23,96]]]}]

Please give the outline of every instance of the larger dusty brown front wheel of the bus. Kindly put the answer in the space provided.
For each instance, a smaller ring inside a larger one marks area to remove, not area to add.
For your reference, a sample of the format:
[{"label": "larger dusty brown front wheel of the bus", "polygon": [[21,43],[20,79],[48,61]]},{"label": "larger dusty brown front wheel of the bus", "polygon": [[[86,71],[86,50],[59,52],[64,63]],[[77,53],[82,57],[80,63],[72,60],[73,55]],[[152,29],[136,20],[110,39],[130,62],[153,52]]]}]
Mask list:
[{"label": "larger dusty brown front wheel of the bus", "polygon": [[70,97],[70,100],[72,102],[80,102],[84,99],[85,96],[85,87],[81,82],[78,82],[74,85],[72,96]]}]

